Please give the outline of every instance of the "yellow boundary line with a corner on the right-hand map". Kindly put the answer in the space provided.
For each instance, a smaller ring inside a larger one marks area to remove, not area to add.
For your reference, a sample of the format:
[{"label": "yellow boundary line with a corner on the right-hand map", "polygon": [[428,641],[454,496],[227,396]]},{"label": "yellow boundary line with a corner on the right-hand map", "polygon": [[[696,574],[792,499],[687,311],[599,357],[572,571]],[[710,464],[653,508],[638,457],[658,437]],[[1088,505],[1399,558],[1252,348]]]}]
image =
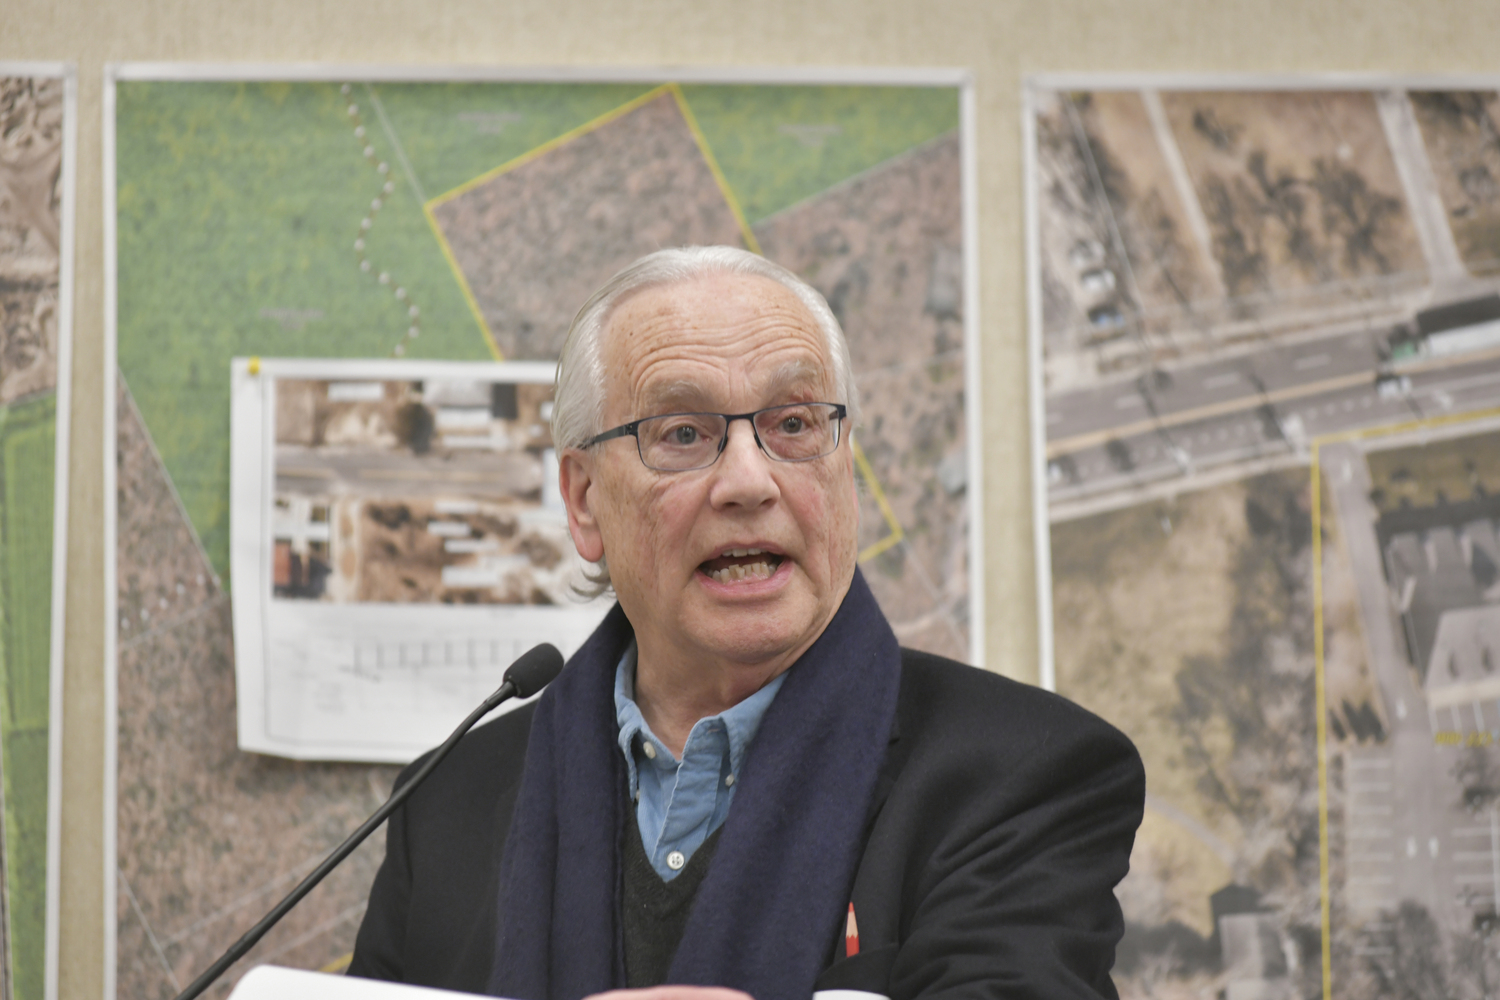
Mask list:
[{"label": "yellow boundary line with a corner on the right-hand map", "polygon": [[[1384,427],[1365,427],[1360,430],[1346,430],[1342,433],[1323,435],[1314,438],[1310,448],[1311,456],[1311,507],[1312,507],[1312,661],[1314,661],[1314,691],[1317,705],[1317,840],[1318,840],[1318,897],[1323,921],[1323,1000],[1334,1000],[1334,919],[1332,898],[1329,895],[1329,837],[1328,837],[1328,693],[1323,664],[1323,475],[1318,463],[1318,450],[1329,444],[1344,444],[1348,441],[1366,441],[1370,438],[1389,438],[1413,430],[1431,430],[1461,423],[1473,423],[1500,417],[1500,409],[1482,409],[1472,414],[1449,414],[1446,417],[1426,417],[1424,420],[1407,420],[1400,424]],[[1340,525],[1340,531],[1346,526]]]}]

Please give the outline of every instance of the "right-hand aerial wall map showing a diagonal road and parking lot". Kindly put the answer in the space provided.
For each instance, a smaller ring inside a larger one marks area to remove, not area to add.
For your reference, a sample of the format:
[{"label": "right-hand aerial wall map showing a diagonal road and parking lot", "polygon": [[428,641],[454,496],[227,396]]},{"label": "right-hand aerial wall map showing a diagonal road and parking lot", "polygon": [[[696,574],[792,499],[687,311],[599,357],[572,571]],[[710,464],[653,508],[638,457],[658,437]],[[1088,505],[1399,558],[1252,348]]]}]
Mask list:
[{"label": "right-hand aerial wall map showing a diagonal road and parking lot", "polygon": [[1148,771],[1122,996],[1491,996],[1500,94],[1028,97],[1052,667]]}]

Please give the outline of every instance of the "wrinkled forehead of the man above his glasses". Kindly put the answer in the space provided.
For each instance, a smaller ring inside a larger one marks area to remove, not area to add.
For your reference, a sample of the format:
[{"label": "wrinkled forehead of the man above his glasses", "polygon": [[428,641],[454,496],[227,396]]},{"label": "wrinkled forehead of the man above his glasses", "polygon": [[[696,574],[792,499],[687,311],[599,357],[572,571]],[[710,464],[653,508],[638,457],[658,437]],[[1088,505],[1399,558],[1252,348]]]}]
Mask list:
[{"label": "wrinkled forehead of the man above his glasses", "polygon": [[[606,408],[628,417],[828,399],[828,342],[786,286],[711,274],[639,289],[603,328]],[[621,417],[626,418],[626,417]]]}]

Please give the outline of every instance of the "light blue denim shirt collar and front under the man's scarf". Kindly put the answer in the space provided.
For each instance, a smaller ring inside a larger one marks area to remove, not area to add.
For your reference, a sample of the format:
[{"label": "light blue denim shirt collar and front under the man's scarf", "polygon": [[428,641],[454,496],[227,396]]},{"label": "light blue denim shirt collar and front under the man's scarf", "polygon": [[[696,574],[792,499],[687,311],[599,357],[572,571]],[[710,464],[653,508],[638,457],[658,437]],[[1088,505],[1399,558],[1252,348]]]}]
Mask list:
[{"label": "light blue denim shirt collar and front under the man's scarf", "polygon": [[646,726],[634,702],[636,645],[630,643],[620,658],[615,670],[620,751],[630,771],[640,843],[664,882],[675,879],[693,852],[723,825],[746,750],[784,679],[782,673],[740,705],[698,720],[678,760]]}]

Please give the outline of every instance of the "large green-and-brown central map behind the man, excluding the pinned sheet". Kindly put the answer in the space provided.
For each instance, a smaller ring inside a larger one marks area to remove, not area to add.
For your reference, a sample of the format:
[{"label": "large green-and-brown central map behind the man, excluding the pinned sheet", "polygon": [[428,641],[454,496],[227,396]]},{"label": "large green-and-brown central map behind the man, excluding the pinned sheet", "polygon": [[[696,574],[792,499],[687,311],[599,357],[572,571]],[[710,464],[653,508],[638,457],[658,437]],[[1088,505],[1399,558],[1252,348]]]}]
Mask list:
[{"label": "large green-and-brown central map behind the man, excluding the pinned sheet", "polygon": [[[849,336],[872,589],[904,645],[968,658],[975,318],[957,76],[177,75],[126,67],[112,81],[120,996],[174,996],[394,775],[236,745],[234,357],[552,361],[573,312],[636,256],[688,243],[760,252],[819,288]],[[308,391],[316,405],[334,390]],[[380,391],[392,412],[405,405],[406,388]],[[308,511],[286,538],[288,588],[333,579],[294,573],[312,567]],[[450,531],[454,517],[426,517],[423,531]],[[302,541],[309,561],[294,565]],[[438,538],[411,546],[456,553],[430,580],[412,577],[423,600],[466,600],[474,553]],[[376,840],[356,855],[242,969],[346,961],[380,850]]]}]

